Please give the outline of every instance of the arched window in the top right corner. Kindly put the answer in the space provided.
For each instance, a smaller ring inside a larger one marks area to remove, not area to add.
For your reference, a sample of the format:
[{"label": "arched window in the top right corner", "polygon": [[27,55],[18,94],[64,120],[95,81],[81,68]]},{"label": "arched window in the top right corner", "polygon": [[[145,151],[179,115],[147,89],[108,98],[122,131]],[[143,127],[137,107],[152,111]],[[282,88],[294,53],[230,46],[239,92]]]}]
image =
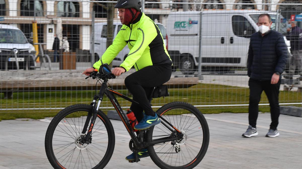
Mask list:
[{"label": "arched window in the top right corner", "polygon": [[[299,4],[302,0],[285,0],[282,4]],[[302,5],[280,5],[281,15],[286,19],[291,19],[291,15],[299,15],[302,13]]]}]

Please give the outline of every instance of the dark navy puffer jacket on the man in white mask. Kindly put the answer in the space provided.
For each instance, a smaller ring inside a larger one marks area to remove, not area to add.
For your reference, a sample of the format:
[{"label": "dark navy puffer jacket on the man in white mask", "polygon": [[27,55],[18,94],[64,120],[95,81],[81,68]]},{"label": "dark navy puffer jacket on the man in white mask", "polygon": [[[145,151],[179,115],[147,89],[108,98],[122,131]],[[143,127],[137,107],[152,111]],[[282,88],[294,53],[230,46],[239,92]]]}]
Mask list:
[{"label": "dark navy puffer jacket on the man in white mask", "polygon": [[[254,80],[271,80],[275,72],[282,74],[287,61],[287,46],[283,35],[270,30],[251,35],[248,55],[248,76]],[[281,76],[280,76],[281,78]]]}]

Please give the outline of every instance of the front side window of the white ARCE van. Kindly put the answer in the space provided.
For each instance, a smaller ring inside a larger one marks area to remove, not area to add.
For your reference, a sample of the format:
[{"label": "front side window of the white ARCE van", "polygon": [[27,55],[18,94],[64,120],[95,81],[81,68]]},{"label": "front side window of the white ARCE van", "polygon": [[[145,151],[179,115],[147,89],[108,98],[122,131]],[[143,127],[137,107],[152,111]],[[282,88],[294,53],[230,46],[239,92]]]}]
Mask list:
[{"label": "front side window of the white ARCE van", "polygon": [[255,33],[255,29],[249,23],[249,21],[240,15],[234,15],[232,17],[232,26],[233,32],[236,36],[249,38],[253,33]]}]

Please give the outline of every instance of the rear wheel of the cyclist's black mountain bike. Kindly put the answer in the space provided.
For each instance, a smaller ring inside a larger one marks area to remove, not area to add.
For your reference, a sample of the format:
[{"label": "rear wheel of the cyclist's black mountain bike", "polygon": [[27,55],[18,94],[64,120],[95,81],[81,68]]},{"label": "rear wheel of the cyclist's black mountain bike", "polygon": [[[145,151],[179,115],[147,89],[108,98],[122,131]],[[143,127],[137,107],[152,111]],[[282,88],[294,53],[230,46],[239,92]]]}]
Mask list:
[{"label": "rear wheel of the cyclist's black mountain bike", "polygon": [[[172,102],[162,106],[157,113],[184,134],[176,141],[148,147],[153,162],[160,168],[194,168],[200,163],[209,145],[209,127],[202,113],[191,104]],[[162,120],[162,123],[165,123]],[[175,136],[162,123],[147,131],[148,141]]]}]

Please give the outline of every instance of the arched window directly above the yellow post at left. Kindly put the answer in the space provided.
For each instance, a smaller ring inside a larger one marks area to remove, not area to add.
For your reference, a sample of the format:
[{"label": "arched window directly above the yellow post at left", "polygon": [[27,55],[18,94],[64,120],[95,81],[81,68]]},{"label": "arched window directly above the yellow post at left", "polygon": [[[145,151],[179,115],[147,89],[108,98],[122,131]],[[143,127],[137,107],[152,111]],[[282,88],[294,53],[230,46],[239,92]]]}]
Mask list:
[{"label": "arched window directly above the yellow post at left", "polygon": [[22,0],[21,1],[21,16],[27,17],[43,17],[43,2],[37,0]]}]

